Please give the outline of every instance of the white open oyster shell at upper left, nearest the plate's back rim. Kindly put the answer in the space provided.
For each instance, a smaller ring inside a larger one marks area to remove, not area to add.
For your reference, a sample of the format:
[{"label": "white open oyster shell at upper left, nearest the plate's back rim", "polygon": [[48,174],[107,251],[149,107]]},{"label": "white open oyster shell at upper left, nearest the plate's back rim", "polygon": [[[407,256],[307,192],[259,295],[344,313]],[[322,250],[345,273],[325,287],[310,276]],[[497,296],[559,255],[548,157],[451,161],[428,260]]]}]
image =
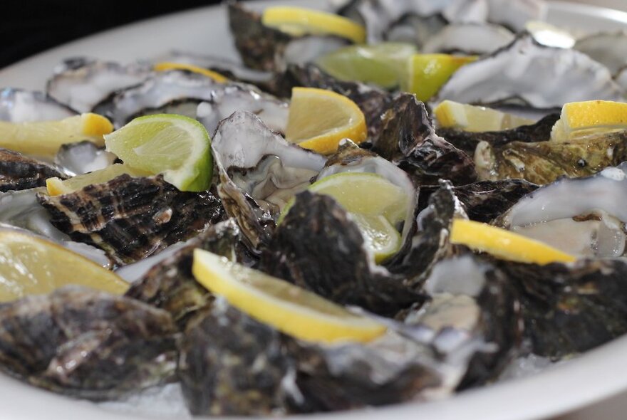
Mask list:
[{"label": "white open oyster shell at upper left, nearest the plate's back rim", "polygon": [[123,66],[85,57],[70,58],[54,69],[48,95],[78,112],[90,112],[117,90],[142,83],[150,68]]}]

